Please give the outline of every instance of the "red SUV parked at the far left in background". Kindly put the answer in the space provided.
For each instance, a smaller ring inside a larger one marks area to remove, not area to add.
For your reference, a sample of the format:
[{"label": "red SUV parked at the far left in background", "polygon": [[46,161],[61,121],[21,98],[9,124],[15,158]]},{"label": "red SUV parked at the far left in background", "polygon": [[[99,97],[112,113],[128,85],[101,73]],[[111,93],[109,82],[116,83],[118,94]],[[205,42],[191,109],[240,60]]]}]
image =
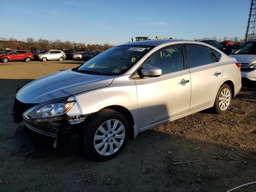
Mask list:
[{"label": "red SUV parked at the far left in background", "polygon": [[12,50],[6,54],[0,54],[0,60],[4,63],[18,60],[30,62],[32,59],[34,59],[32,52],[26,50]]}]

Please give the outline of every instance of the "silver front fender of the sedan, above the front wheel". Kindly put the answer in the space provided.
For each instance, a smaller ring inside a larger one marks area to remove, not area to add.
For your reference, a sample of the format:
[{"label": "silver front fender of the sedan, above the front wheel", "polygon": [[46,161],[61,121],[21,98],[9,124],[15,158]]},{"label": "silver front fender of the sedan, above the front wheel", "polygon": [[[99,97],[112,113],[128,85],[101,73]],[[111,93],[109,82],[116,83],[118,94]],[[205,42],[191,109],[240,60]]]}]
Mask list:
[{"label": "silver front fender of the sedan, above the front wheel", "polygon": [[79,116],[98,112],[112,105],[123,106],[130,111],[134,124],[138,122],[138,100],[136,84],[127,76],[114,78],[111,85],[90,90],[68,100],[76,100],[74,106],[67,112],[68,116]]}]

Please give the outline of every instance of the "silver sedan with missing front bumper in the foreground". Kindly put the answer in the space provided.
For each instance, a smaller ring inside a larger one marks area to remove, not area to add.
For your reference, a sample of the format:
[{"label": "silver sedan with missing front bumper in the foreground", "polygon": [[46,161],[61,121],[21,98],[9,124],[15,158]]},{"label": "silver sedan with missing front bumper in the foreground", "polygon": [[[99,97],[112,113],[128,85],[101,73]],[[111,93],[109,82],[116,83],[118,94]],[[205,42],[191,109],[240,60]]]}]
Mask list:
[{"label": "silver sedan with missing front bumper in the foreground", "polygon": [[92,159],[109,160],[140,132],[207,108],[227,112],[241,88],[236,63],[198,41],[115,46],[77,68],[21,88],[14,121],[24,126],[16,140],[21,143],[24,135],[18,133],[26,130],[30,138],[44,137],[54,148],[80,145]]}]

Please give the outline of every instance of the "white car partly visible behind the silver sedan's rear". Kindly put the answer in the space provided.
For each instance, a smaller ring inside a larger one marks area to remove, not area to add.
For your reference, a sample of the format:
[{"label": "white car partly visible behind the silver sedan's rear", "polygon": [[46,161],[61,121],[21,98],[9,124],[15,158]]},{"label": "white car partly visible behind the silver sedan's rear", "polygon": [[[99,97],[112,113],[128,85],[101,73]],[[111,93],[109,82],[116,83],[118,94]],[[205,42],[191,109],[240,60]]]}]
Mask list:
[{"label": "white car partly visible behind the silver sedan's rear", "polygon": [[243,78],[256,81],[256,39],[246,42],[229,56],[241,62]]}]

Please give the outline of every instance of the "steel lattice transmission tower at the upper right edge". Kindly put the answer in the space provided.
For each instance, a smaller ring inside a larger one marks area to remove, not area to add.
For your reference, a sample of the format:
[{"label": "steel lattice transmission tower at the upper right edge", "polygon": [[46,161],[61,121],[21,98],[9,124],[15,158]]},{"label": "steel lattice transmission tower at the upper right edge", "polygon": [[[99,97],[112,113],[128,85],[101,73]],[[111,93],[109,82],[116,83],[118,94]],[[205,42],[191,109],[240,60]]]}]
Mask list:
[{"label": "steel lattice transmission tower at the upper right edge", "polygon": [[251,7],[249,12],[248,24],[246,28],[246,34],[244,42],[252,39],[256,39],[256,0],[251,0]]}]

